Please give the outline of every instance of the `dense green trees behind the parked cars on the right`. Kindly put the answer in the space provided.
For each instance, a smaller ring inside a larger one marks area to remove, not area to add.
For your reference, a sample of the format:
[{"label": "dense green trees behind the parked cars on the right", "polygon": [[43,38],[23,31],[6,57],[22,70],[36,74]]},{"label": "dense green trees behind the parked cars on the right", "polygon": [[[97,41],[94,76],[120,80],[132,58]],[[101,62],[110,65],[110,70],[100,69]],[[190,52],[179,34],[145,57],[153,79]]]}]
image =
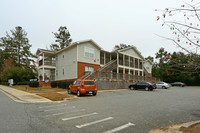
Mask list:
[{"label": "dense green trees behind the parked cars on the right", "polygon": [[183,52],[169,53],[161,48],[156,53],[158,63],[154,63],[152,76],[162,81],[184,82],[186,85],[200,85],[200,56]]}]

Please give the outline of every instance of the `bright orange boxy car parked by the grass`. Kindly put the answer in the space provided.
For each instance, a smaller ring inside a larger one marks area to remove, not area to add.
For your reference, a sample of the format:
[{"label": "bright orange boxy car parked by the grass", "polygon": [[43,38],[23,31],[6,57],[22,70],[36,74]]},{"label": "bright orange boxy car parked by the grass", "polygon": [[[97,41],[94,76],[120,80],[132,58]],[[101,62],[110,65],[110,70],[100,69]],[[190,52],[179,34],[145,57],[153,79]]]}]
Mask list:
[{"label": "bright orange boxy car parked by the grass", "polygon": [[85,94],[96,96],[96,83],[93,80],[76,80],[69,86],[68,94],[71,93],[76,93],[78,97]]}]

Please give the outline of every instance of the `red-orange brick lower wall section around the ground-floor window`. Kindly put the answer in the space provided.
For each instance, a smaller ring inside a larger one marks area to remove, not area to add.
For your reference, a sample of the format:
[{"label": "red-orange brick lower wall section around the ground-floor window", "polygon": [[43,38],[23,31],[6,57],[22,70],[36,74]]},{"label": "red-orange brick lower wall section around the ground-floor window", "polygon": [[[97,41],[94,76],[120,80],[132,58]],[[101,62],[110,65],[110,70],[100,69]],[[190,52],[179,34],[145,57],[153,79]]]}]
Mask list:
[{"label": "red-orange brick lower wall section around the ground-floor window", "polygon": [[78,65],[78,70],[77,70],[78,79],[80,77],[82,77],[83,75],[85,75],[85,66],[94,67],[94,71],[96,71],[96,70],[98,70],[100,68],[100,65],[84,63],[84,62],[78,62],[77,65]]}]

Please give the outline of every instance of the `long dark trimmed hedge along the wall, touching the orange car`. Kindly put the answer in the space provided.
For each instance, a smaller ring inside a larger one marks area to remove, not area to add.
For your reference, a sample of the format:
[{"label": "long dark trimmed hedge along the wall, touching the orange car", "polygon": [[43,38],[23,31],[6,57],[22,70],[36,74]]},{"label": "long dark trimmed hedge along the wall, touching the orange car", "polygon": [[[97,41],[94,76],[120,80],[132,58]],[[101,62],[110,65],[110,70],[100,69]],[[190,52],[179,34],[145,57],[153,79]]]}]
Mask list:
[{"label": "long dark trimmed hedge along the wall, touching the orange car", "polygon": [[72,84],[74,81],[52,81],[51,87],[52,88],[62,88],[67,89],[70,84]]}]

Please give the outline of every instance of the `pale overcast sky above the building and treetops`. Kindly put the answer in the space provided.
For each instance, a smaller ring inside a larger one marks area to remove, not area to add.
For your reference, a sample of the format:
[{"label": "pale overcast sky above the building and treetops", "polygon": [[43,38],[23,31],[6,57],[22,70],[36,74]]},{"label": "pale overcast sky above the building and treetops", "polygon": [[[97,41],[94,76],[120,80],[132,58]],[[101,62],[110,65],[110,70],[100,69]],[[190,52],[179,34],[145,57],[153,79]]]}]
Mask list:
[{"label": "pale overcast sky above the building and treetops", "polygon": [[134,45],[144,57],[164,47],[179,51],[172,42],[155,34],[171,36],[156,21],[155,9],[180,7],[181,0],[0,0],[0,37],[16,26],[28,33],[31,51],[49,47],[60,26],[66,26],[73,42],[93,39],[104,50],[116,44]]}]

